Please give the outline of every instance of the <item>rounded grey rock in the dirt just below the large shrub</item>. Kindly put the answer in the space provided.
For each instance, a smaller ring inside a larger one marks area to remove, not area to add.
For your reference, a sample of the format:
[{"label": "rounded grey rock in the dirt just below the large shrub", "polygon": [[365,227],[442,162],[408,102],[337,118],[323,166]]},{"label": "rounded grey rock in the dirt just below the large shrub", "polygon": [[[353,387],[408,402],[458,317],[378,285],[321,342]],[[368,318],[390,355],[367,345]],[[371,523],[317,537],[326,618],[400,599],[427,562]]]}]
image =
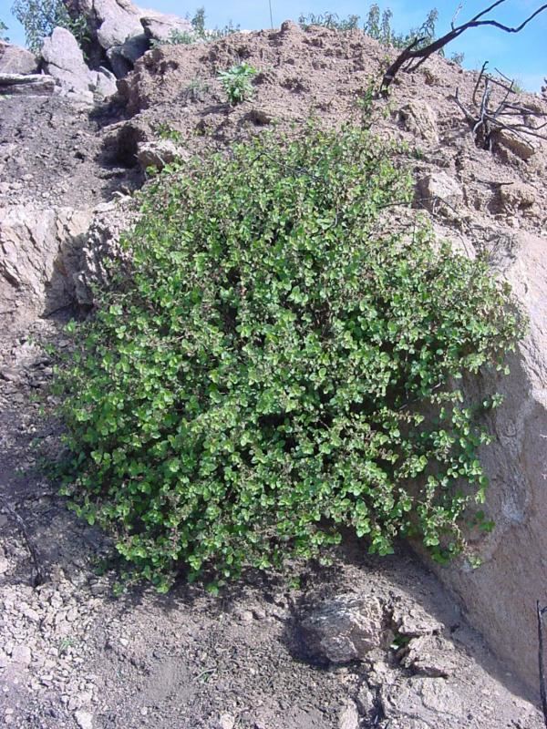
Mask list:
[{"label": "rounded grey rock in the dirt just below the large shrub", "polygon": [[376,598],[343,595],[327,601],[300,622],[304,650],[330,663],[362,659],[390,642],[386,614]]}]

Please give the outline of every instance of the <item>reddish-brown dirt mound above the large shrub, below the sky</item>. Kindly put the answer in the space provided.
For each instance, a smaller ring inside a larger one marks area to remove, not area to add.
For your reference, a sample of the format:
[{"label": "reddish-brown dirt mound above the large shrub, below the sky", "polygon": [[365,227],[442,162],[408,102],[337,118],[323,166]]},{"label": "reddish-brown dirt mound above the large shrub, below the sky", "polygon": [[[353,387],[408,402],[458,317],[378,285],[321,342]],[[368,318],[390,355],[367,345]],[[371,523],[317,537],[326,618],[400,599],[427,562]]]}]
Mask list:
[{"label": "reddish-brown dirt mound above the large shrub, below the sky", "polygon": [[[199,151],[264,128],[290,129],[310,116],[330,125],[358,118],[356,100],[391,56],[360,31],[303,31],[287,22],[280,31],[236,34],[212,46],[155,48],[119,81],[120,97],[135,138],[152,141],[172,133],[182,147]],[[256,93],[232,108],[218,73],[243,60],[259,71]],[[480,218],[480,223],[542,230],[547,142],[507,132],[494,137],[492,152],[480,149],[454,98],[458,89],[459,99],[470,104],[478,77],[433,56],[416,73],[397,77],[391,98],[378,107],[375,129],[408,142],[419,178],[427,180],[440,169],[459,184],[460,227]],[[494,100],[503,95],[494,87]],[[539,96],[513,95],[513,100],[527,109],[523,123],[547,113]],[[427,182],[421,190],[423,197],[436,192]],[[422,200],[424,206],[433,207],[430,200]]]}]

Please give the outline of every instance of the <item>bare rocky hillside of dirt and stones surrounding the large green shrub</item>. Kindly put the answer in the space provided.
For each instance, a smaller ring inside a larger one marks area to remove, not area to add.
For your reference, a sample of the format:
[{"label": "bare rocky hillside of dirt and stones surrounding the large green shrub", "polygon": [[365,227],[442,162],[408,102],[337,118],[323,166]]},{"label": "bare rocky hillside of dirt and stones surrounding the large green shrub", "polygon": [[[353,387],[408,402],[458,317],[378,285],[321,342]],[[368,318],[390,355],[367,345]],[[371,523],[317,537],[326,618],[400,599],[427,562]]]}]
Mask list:
[{"label": "bare rocky hillside of dirt and stones surrounding the large green shrub", "polygon": [[[299,590],[254,575],[219,599],[180,585],[168,598],[114,601],[94,571],[108,544],[35,469],[33,442],[59,447],[33,398],[51,374],[42,343],[67,344],[62,323],[92,305],[90,284],[137,215],[148,167],[310,115],[350,119],[387,51],[360,32],[285,23],[212,44],[141,45],[116,82],[121,51],[109,51],[134,36],[108,36],[91,5],[96,60],[109,67],[65,64],[85,77],[83,95],[59,74],[33,74],[23,51],[26,67],[6,70],[13,46],[0,54],[0,92],[25,90],[0,100],[0,715],[17,727],[540,727],[525,700],[537,696],[535,601],[546,600],[547,143],[526,128],[547,103],[512,94],[521,128],[484,139],[456,101],[477,113],[483,80],[434,56],[397,77],[374,117],[379,135],[408,142],[416,209],[468,255],[488,255],[530,317],[511,376],[480,384],[506,395],[484,452],[496,526],[477,537],[483,566],[434,577],[407,548],[370,560],[348,537],[334,569],[294,565]],[[65,41],[56,31],[46,44],[44,70],[59,67],[46,58]],[[232,108],[218,73],[242,60],[259,70],[255,96]],[[111,85],[98,95],[86,74]],[[3,81],[14,75],[37,78]],[[494,108],[505,93],[493,88]]]}]

